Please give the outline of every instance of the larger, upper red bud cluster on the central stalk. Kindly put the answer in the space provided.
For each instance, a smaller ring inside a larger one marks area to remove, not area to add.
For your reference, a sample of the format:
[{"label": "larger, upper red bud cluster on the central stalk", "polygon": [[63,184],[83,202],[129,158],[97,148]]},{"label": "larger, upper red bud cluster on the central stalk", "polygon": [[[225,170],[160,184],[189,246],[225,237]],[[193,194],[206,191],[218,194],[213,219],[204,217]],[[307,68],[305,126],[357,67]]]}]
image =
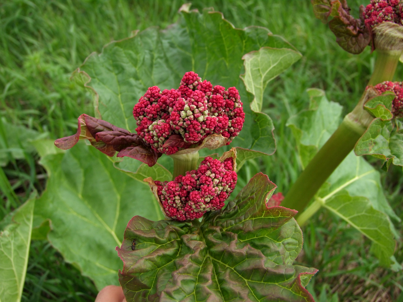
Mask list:
[{"label": "larger, upper red bud cluster on the central stalk", "polygon": [[[229,145],[245,121],[242,105],[235,87],[213,87],[190,71],[177,90],[150,87],[134,106],[133,116],[137,134],[154,150],[170,155],[202,143],[210,134],[228,138]],[[175,140],[169,140],[174,134]]]}]

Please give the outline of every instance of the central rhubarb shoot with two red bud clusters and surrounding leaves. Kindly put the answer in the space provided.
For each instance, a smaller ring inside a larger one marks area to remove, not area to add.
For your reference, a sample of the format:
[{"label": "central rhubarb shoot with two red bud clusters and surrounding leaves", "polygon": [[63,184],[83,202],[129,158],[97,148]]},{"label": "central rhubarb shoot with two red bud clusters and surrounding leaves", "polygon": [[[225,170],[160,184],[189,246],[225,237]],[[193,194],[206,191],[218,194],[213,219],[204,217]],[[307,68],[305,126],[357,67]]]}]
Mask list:
[{"label": "central rhubarb shoot with two red bud clusters and surrounding leaves", "polygon": [[99,289],[119,280],[127,301],[313,301],[317,270],[293,265],[296,212],[271,199],[264,174],[236,187],[237,169],[275,151],[264,90],[299,58],[267,29],[186,5],[171,27],[91,54],[73,79],[93,93],[94,116],[79,116],[58,149],[36,144],[51,177],[35,236]]}]

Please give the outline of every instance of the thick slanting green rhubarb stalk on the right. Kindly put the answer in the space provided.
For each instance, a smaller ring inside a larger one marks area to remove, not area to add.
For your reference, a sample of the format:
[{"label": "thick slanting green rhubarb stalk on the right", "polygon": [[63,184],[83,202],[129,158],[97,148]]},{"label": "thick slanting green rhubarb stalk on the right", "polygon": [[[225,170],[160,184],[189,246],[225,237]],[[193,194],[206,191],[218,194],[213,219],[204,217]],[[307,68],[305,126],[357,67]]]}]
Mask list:
[{"label": "thick slanting green rhubarb stalk on the right", "polygon": [[[369,85],[392,81],[400,54],[401,52],[398,51],[378,52],[375,70]],[[299,212],[305,209],[330,174],[353,150],[355,143],[357,143],[373,120],[373,117],[363,108],[368,97],[371,97],[371,95],[364,92],[354,110],[345,116],[339,128],[316,153],[285,196],[281,203],[283,207],[296,209]],[[320,207],[315,204],[309,207],[306,213],[302,213],[303,222],[305,223],[312,217],[318,209]]]}]

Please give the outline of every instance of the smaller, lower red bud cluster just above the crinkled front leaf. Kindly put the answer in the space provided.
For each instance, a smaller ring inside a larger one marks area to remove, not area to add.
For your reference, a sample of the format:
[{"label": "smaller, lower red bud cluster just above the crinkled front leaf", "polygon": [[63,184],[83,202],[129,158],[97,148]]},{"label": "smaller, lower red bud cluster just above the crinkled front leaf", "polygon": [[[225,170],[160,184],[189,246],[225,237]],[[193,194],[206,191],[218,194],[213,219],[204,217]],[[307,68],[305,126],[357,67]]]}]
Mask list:
[{"label": "smaller, lower red bud cluster just above the crinkled front leaf", "polygon": [[233,171],[233,158],[221,162],[206,157],[197,170],[170,182],[156,181],[155,184],[168,217],[178,221],[193,220],[224,206],[237,184],[237,174]]}]

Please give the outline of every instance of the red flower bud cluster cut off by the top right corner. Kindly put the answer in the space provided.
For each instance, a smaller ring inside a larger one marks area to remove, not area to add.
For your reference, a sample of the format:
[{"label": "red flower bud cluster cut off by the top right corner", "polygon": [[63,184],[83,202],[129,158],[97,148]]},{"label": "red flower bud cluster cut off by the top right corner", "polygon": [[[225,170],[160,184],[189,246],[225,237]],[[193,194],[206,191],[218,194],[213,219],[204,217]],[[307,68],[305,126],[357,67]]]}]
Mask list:
[{"label": "red flower bud cluster cut off by the top right corner", "polygon": [[403,25],[403,12],[399,0],[371,0],[365,8],[365,24],[371,28],[382,22]]}]

